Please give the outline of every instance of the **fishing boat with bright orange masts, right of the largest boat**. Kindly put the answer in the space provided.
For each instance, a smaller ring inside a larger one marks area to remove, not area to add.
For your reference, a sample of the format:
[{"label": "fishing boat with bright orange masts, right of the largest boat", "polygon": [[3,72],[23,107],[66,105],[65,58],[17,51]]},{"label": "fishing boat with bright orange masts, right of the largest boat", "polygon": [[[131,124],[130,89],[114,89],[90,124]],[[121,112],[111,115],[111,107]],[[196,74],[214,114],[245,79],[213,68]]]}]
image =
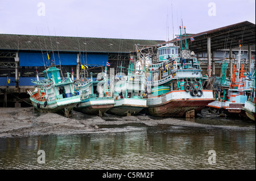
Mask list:
[{"label": "fishing boat with bright orange masts, right of the largest boat", "polygon": [[[216,100],[209,103],[207,106],[216,108],[220,113],[224,113],[228,117],[246,117],[245,101],[247,100],[248,92],[251,91],[249,74],[243,69],[241,62],[241,44],[238,50],[237,64],[233,65],[232,80],[230,83],[223,85],[221,83],[216,91]],[[225,63],[224,63],[225,64]],[[224,65],[224,69],[225,70]],[[225,72],[222,71],[225,74]],[[221,79],[224,79],[221,78]]]}]

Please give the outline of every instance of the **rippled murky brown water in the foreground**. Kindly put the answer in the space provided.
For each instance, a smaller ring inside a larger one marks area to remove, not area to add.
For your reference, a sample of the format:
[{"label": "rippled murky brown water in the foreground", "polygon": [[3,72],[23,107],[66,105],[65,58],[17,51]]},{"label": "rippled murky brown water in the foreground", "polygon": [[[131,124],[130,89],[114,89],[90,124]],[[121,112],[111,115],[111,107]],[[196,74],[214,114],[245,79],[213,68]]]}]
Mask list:
[{"label": "rippled murky brown water in the foreground", "polygon": [[[196,119],[255,128],[254,122]],[[0,169],[255,169],[255,129],[99,125],[108,132],[0,138]],[[46,163],[38,163],[38,150]],[[208,161],[209,150],[216,163]]]}]

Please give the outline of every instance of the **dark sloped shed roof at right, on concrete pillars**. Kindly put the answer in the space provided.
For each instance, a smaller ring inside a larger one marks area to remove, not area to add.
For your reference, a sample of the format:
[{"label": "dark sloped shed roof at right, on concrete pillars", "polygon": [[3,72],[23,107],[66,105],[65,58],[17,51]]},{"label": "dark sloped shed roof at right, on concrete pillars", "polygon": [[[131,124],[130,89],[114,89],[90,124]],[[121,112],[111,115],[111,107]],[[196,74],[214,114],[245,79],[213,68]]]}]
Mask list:
[{"label": "dark sloped shed roof at right, on concrete pillars", "polygon": [[[245,21],[196,33],[192,36],[195,40],[189,41],[191,36],[187,36],[187,42],[189,49],[195,53],[207,52],[207,37],[210,37],[210,48],[212,51],[238,47],[239,40],[241,40],[243,46],[253,45],[255,44],[255,24]],[[185,37],[183,36],[183,41],[184,39]],[[176,43],[177,41],[179,40],[173,39],[169,42]]]}]

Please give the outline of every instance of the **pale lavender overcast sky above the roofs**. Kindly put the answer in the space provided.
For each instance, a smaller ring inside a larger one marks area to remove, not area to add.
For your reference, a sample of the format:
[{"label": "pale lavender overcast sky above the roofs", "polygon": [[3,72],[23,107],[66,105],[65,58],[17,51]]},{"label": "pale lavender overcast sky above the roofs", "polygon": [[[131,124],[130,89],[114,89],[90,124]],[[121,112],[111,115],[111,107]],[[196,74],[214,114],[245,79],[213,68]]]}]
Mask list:
[{"label": "pale lavender overcast sky above the roofs", "polygon": [[0,33],[20,35],[171,40],[182,22],[199,33],[246,20],[255,0],[0,0]]}]

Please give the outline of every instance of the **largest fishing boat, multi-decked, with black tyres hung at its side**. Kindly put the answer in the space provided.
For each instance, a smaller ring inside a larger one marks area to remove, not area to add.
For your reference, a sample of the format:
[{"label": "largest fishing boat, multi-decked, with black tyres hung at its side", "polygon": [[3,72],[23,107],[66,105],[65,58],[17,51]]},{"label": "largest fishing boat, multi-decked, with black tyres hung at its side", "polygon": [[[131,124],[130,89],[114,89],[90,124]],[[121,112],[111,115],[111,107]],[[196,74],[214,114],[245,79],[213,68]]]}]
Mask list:
[{"label": "largest fishing boat, multi-decked, with black tyres hung at its side", "polygon": [[180,43],[180,47],[167,44],[158,48],[158,60],[148,69],[144,99],[148,106],[145,111],[151,116],[185,117],[187,112],[199,113],[214,101],[213,90],[203,87],[208,78],[201,74],[195,53],[187,48],[187,42],[185,48]]}]

